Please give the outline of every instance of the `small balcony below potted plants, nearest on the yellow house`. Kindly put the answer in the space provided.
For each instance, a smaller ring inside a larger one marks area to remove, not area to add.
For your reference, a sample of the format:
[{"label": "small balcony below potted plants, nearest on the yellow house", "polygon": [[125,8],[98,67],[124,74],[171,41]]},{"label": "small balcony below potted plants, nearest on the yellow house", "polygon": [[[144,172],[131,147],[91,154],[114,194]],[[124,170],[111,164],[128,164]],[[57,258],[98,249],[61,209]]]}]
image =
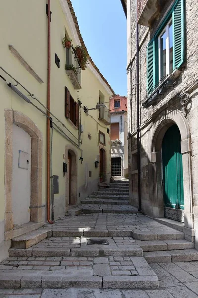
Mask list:
[{"label": "small balcony below potted plants, nearest on the yellow house", "polygon": [[66,49],[66,74],[69,76],[75,90],[81,89],[81,67],[73,48]]}]

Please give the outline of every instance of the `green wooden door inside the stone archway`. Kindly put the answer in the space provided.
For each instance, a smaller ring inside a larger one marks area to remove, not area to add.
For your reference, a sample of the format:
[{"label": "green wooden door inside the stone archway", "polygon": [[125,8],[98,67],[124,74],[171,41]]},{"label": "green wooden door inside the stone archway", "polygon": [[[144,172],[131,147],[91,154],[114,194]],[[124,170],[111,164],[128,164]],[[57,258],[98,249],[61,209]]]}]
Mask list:
[{"label": "green wooden door inside the stone archway", "polygon": [[177,125],[171,126],[162,142],[165,217],[183,222],[184,190],[181,136]]}]

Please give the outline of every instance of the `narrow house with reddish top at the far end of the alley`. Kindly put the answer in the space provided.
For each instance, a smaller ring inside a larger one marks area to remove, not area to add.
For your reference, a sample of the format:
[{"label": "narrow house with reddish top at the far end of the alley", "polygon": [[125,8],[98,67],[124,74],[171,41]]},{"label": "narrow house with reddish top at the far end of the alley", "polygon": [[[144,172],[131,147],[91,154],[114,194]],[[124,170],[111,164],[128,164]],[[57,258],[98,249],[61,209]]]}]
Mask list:
[{"label": "narrow house with reddish top at the far end of the alley", "polygon": [[110,98],[111,112],[111,175],[128,177],[127,97]]}]

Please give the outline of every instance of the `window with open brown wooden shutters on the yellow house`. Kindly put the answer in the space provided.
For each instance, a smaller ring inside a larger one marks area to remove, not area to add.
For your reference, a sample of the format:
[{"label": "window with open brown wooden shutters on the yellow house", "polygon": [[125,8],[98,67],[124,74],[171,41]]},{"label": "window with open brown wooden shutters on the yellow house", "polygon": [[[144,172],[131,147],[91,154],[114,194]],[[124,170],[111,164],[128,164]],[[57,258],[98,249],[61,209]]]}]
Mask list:
[{"label": "window with open brown wooden shutters on the yellow house", "polygon": [[70,95],[67,87],[65,87],[65,118],[71,120],[77,128],[79,127],[79,105]]}]

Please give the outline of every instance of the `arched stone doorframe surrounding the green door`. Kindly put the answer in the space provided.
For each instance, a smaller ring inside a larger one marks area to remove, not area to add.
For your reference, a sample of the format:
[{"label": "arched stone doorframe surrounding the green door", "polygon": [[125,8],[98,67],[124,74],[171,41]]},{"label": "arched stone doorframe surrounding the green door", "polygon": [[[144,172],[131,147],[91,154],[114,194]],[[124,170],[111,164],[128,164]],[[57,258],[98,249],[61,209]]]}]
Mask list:
[{"label": "arched stone doorframe surrounding the green door", "polygon": [[[148,170],[149,170],[149,195],[153,205],[153,217],[164,217],[163,185],[162,185],[162,141],[167,129],[176,124],[181,135],[181,153],[183,163],[184,183],[184,225],[193,229],[193,203],[192,203],[192,175],[191,175],[191,140],[187,119],[182,112],[174,109],[164,110],[159,120],[151,129],[149,145]],[[194,236],[191,231],[186,231],[189,236]]]}]

